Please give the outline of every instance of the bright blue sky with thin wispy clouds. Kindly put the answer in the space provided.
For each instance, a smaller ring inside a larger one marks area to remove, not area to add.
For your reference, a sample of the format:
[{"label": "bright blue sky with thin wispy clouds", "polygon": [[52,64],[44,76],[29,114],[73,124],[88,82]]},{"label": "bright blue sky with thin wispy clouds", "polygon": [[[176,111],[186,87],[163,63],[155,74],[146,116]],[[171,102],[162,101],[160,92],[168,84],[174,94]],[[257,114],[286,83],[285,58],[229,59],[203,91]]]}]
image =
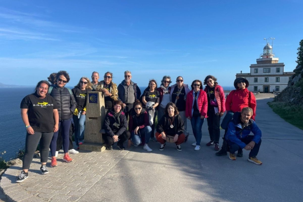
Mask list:
[{"label": "bright blue sky with thin wispy clouds", "polygon": [[293,71],[302,7],[299,0],[0,0],[0,82],[35,85],[66,70],[69,86],[92,71],[111,71],[120,83],[130,70],[139,86],[163,75],[190,84],[209,74],[229,86],[236,73],[250,71],[268,37]]}]

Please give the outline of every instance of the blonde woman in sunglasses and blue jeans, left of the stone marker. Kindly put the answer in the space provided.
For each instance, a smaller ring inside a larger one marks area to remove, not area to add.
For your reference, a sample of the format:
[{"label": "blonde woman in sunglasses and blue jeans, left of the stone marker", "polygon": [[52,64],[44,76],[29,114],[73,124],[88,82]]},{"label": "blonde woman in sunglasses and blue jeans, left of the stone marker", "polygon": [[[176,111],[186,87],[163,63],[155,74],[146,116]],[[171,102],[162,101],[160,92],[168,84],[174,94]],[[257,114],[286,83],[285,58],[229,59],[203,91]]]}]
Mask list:
[{"label": "blonde woman in sunglasses and blue jeans, left of the stone marker", "polygon": [[80,78],[79,83],[72,89],[74,94],[77,108],[73,114],[73,120],[75,124],[75,142],[77,146],[83,144],[84,139],[84,124],[86,114],[86,98],[87,90],[92,90],[92,83],[87,77]]}]

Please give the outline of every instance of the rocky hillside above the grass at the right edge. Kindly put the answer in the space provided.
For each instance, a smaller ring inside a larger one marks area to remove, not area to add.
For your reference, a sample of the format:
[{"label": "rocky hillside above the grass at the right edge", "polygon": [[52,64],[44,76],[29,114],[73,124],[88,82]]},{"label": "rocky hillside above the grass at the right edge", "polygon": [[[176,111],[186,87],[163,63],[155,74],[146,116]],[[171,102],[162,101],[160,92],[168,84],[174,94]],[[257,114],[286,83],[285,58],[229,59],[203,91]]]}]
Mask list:
[{"label": "rocky hillside above the grass at the right edge", "polygon": [[293,105],[303,105],[303,66],[298,65],[294,69],[293,75],[288,86],[275,98],[275,101],[290,102]]}]

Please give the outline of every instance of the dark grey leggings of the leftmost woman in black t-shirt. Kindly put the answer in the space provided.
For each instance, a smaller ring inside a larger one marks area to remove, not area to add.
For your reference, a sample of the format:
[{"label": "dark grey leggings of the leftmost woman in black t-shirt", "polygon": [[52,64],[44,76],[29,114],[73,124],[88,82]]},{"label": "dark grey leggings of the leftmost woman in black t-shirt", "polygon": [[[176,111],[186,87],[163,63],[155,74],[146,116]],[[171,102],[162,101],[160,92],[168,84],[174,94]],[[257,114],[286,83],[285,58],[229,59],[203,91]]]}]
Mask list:
[{"label": "dark grey leggings of the leftmost woman in black t-shirt", "polygon": [[49,154],[49,145],[51,144],[53,132],[35,132],[33,135],[26,134],[25,138],[25,154],[23,156],[22,169],[29,169],[34,157],[34,153],[37,149],[38,143],[40,141],[40,154],[41,162],[46,163]]}]

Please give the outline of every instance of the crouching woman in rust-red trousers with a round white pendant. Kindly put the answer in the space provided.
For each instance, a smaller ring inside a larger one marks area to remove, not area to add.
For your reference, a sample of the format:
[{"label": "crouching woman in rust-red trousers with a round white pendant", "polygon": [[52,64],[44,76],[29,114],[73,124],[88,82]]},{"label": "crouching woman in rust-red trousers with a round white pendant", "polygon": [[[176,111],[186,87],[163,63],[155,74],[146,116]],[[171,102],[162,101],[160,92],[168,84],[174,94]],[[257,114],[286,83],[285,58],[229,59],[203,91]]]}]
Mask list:
[{"label": "crouching woman in rust-red trousers with a round white pendant", "polygon": [[177,150],[182,151],[181,144],[185,140],[184,122],[176,105],[170,102],[165,107],[165,115],[157,125],[156,138],[161,143],[159,150],[163,150],[166,145],[167,136],[172,136],[173,142],[176,144]]}]

